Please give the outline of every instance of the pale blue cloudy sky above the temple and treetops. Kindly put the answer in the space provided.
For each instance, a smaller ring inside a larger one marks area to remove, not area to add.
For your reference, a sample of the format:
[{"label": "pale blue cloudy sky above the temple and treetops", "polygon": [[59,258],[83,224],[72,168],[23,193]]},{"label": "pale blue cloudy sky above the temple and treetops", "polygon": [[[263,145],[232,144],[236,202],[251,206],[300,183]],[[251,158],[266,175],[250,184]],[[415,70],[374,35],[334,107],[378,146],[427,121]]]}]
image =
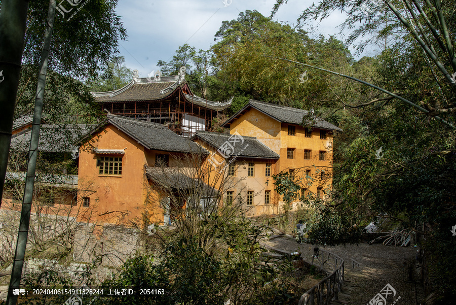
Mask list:
[{"label": "pale blue cloudy sky above the temple and treetops", "polygon": [[[224,20],[236,19],[240,12],[257,10],[264,16],[271,14],[275,0],[119,0],[117,13],[127,29],[127,41],[121,41],[121,56],[141,77],[157,71],[159,60],[168,61],[175,50],[185,43],[197,50],[207,50],[214,44],[214,35]],[[300,12],[313,1],[289,0],[279,9],[275,20],[296,24]],[[334,12],[315,30],[328,37],[339,32],[337,25],[345,15]],[[337,36],[340,38],[339,36]]]}]

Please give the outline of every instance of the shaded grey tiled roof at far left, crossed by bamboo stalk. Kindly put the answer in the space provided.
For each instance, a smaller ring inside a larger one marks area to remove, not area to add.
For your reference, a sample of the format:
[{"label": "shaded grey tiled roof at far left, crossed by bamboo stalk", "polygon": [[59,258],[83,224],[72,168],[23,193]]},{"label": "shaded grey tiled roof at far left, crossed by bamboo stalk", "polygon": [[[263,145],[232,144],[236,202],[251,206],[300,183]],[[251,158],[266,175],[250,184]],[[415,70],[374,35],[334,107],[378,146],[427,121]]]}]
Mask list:
[{"label": "shaded grey tiled roof at far left, crossed by bamboo stalk", "polygon": [[[42,125],[38,150],[43,152],[66,152],[74,149],[74,143],[83,138],[94,125]],[[27,151],[30,146],[31,129],[14,134],[11,149]]]}]

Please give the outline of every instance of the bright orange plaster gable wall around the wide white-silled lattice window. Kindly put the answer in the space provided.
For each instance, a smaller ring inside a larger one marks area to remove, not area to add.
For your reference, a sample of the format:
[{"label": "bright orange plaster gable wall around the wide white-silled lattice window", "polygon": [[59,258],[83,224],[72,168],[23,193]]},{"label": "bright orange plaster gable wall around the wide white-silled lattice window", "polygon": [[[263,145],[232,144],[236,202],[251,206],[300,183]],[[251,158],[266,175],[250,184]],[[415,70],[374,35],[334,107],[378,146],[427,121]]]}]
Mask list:
[{"label": "bright orange plaster gable wall around the wide white-silled lattice window", "polygon": [[[81,148],[79,157],[79,184],[88,185],[91,192],[88,192],[87,196],[90,197],[91,208],[96,209],[98,221],[126,223],[141,217],[146,182],[144,164],[148,160],[144,147],[123,131],[112,125],[108,125],[105,131],[100,132],[101,137],[93,146],[100,150],[125,149],[122,157],[122,176],[99,175],[97,155],[86,144]],[[88,151],[85,151],[87,149]],[[150,156],[150,153],[148,155]]]}]

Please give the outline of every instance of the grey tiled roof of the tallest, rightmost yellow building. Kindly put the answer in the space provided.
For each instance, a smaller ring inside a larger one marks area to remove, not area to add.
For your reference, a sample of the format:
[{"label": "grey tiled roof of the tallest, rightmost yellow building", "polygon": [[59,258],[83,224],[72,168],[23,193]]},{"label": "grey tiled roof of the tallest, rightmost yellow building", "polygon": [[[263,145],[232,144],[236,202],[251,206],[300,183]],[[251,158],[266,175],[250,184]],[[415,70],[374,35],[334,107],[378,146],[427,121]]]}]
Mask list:
[{"label": "grey tiled roof of the tallest, rightmost yellow building", "polygon": [[[244,106],[244,108],[242,108],[240,111],[238,111],[238,113],[236,113],[231,118],[226,120],[226,122],[224,122],[221,126],[225,127],[225,125],[231,124],[231,122],[236,117],[238,117],[240,113],[243,113],[249,107],[255,108],[256,110],[272,117],[273,119],[276,119],[279,122],[290,124],[301,124],[302,119],[309,113],[308,111],[302,109],[280,106],[271,103],[263,103],[258,100],[250,99],[249,103],[246,106]],[[313,124],[313,127],[342,131],[342,129],[340,129],[339,127],[334,126],[333,124],[324,121],[320,118],[316,119],[315,123]]]}]

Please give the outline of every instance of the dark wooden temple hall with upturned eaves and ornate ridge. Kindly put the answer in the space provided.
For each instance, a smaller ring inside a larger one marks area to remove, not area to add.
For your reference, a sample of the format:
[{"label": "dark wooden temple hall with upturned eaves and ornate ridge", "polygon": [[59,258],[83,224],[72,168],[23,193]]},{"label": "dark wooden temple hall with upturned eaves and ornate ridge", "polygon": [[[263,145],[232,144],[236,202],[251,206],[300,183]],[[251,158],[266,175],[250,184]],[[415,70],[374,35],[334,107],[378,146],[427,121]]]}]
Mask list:
[{"label": "dark wooden temple hall with upturned eaves and ornate ridge", "polygon": [[218,112],[230,107],[232,99],[217,102],[193,94],[185,81],[185,67],[178,75],[139,78],[119,90],[93,92],[103,110],[166,125],[179,135],[191,137],[197,131],[210,130]]}]

